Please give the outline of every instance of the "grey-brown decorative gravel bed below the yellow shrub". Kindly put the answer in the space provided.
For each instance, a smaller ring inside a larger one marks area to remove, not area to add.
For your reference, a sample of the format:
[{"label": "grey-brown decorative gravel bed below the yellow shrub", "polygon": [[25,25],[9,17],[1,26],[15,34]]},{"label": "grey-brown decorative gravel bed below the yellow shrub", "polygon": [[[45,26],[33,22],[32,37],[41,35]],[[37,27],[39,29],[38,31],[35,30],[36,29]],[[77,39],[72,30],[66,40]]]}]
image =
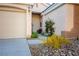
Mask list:
[{"label": "grey-brown decorative gravel bed below the yellow shrub", "polygon": [[30,45],[30,50],[33,56],[79,56],[79,40],[72,39],[71,42],[71,45],[63,45],[58,50],[43,44]]}]

